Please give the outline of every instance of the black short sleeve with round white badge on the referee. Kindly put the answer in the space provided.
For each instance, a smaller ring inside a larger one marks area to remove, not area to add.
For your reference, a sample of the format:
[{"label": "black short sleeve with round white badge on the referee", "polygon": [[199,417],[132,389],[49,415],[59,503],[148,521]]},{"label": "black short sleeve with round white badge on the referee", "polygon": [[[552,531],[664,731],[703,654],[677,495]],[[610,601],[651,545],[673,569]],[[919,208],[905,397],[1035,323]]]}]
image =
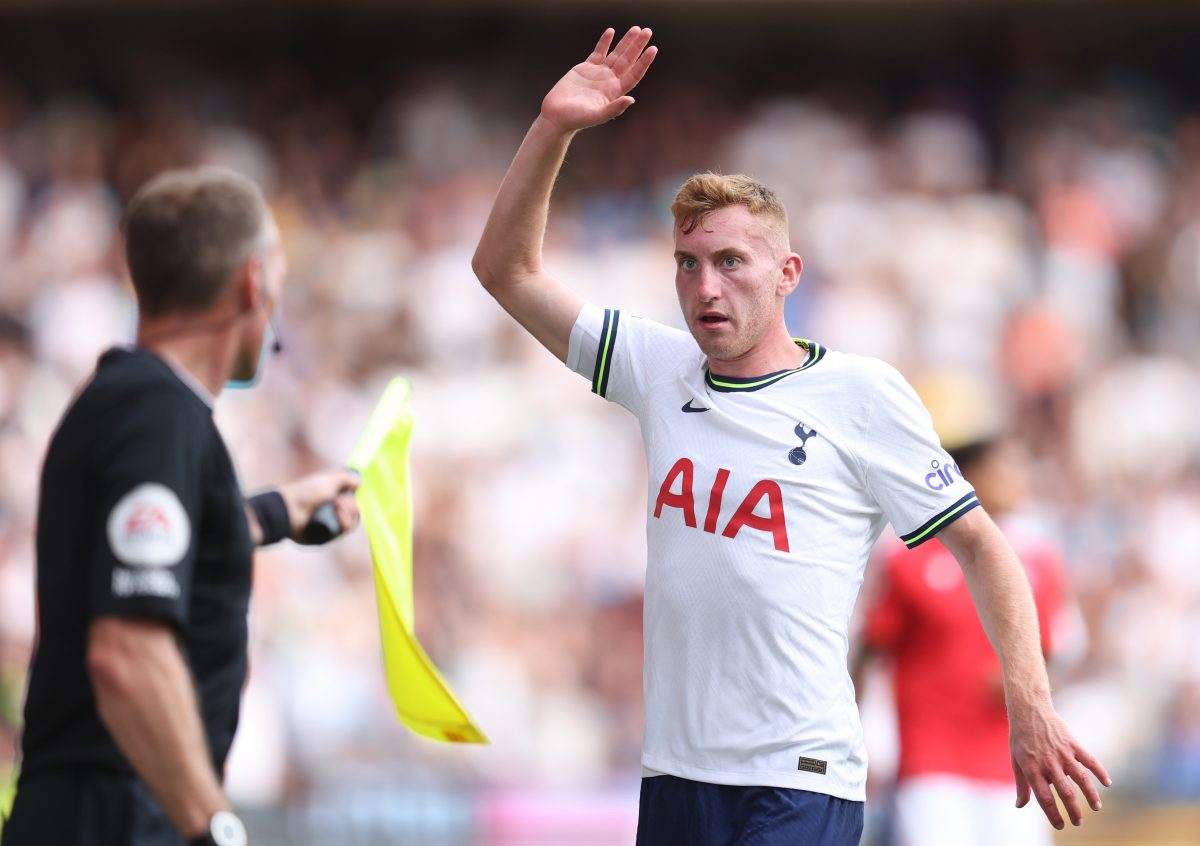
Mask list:
[{"label": "black short sleeve with round white badge on the referee", "polygon": [[97,426],[89,478],[91,618],[187,622],[208,443],[187,401],[148,392]]}]

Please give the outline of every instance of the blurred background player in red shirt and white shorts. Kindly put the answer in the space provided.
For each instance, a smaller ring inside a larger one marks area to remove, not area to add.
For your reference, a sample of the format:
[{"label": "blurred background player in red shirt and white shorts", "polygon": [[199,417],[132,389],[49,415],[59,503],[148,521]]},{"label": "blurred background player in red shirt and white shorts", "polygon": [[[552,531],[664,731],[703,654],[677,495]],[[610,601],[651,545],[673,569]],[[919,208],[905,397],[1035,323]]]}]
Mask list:
[{"label": "blurred background player in red shirt and white shorts", "polygon": [[[966,391],[959,396],[970,401]],[[1050,655],[1054,634],[1069,629],[1070,606],[1057,550],[1020,520],[1028,463],[1024,448],[996,432],[961,433],[956,443],[948,432],[942,443],[950,446],[953,463],[931,469],[930,484],[944,484],[944,475],[965,476],[974,486],[1025,568],[1042,649]],[[958,563],[935,539],[914,550],[898,540],[882,565],[851,674],[860,695],[866,666],[892,659],[900,733],[898,846],[1050,846],[1050,829],[1009,799],[1001,666]]]}]

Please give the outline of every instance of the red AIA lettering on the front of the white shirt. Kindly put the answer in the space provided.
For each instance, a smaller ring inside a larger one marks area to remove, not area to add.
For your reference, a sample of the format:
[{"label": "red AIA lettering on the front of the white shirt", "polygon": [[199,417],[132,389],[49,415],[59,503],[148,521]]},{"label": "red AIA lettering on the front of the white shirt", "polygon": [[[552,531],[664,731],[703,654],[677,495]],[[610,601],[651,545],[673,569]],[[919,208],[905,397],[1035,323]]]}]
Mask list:
[{"label": "red AIA lettering on the front of the white shirt", "polygon": [[[667,472],[666,479],[659,487],[658,499],[654,500],[654,516],[662,517],[664,508],[679,509],[683,512],[684,526],[697,528],[696,499],[692,494],[692,479],[696,475],[696,467],[691,458],[679,458]],[[721,503],[725,498],[725,486],[730,481],[732,473],[724,467],[716,470],[713,486],[708,491],[708,510],[704,512],[704,532],[716,534],[716,526],[721,518]],[[676,488],[678,487],[678,491]],[[768,515],[757,512],[763,500],[767,500]],[[722,538],[737,538],[743,528],[766,532],[770,535],[775,548],[780,552],[788,552],[787,544],[787,518],[784,515],[784,492],[779,482],[763,479],[755,482],[750,492],[738,505],[733,516],[730,517],[721,530]]]}]

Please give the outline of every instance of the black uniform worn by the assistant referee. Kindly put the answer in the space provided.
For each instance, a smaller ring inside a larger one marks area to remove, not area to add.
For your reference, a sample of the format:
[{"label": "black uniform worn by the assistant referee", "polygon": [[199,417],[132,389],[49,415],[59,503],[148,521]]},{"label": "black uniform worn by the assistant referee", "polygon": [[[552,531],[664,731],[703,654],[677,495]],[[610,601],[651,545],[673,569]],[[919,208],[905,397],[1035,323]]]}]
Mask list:
[{"label": "black uniform worn by the assistant referee", "polygon": [[252,546],[209,402],[155,354],[114,349],[54,434],[38,503],[40,632],[4,846],[184,842],[97,714],[86,654],[98,617],[175,629],[223,772],[246,680]]}]

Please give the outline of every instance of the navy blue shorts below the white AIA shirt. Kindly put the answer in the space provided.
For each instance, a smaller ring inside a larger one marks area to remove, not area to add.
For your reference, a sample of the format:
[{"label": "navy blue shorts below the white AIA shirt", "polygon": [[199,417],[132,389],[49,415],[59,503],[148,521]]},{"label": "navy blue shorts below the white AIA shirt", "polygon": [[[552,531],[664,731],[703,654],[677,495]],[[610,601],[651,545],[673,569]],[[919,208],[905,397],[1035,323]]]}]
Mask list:
[{"label": "navy blue shorts below the white AIA shirt", "polygon": [[858,846],[863,803],[786,787],[642,779],[637,846]]}]

